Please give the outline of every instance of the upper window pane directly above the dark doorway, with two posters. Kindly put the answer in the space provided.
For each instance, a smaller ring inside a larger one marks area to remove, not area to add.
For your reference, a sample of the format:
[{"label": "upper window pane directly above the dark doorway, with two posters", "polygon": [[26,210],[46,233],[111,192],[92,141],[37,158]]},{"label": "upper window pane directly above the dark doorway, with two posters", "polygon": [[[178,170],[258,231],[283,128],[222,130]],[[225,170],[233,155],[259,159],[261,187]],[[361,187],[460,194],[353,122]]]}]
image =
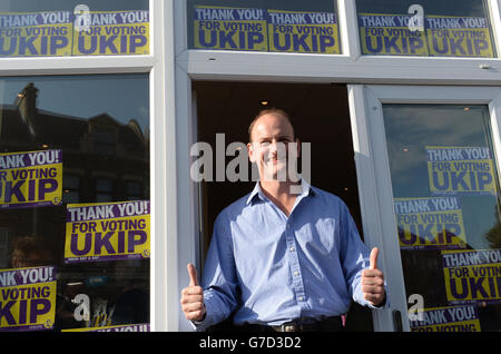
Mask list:
[{"label": "upper window pane directly above the dark doorway, with two posters", "polygon": [[334,0],[188,0],[189,48],[341,53]]}]

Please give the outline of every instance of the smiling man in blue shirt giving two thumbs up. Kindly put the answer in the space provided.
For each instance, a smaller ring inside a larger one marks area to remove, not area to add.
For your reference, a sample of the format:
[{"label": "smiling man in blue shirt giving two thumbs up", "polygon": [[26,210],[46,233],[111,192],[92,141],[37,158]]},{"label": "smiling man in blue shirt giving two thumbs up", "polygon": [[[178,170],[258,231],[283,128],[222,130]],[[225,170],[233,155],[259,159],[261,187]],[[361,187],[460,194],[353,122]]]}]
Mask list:
[{"label": "smiling man in blue shirt giving two thumbs up", "polygon": [[259,114],[249,140],[261,179],[218,215],[203,287],[188,265],[190,284],[180,299],[186,318],[198,331],[232,313],[244,331],[340,331],[352,298],[382,307],[377,248],[369,255],[340,198],[287,171],[287,159],[294,164],[301,153],[287,114]]}]

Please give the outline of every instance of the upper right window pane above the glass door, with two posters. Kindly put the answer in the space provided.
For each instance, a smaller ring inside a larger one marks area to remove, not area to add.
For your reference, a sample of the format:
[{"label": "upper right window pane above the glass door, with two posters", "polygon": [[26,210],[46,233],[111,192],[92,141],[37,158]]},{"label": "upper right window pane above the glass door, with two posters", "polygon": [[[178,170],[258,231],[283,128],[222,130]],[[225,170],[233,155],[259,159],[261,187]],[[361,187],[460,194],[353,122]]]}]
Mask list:
[{"label": "upper right window pane above the glass door, with two posters", "polygon": [[493,58],[484,0],[356,0],[363,55]]}]

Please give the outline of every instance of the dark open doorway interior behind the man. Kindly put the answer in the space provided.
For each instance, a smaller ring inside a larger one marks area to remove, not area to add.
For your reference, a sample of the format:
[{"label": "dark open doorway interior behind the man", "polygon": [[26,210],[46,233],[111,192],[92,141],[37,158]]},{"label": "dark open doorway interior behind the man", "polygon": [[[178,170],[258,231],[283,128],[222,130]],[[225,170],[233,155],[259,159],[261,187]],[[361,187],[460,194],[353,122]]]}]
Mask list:
[{"label": "dark open doorway interior behind the man", "polygon": [[[279,108],[288,112],[296,137],[301,142],[311,144],[311,184],[346,203],[363,238],[345,85],[194,81],[193,90],[197,141],[208,142],[213,150],[216,150],[217,134],[225,135],[225,148],[235,141],[247,144],[248,125],[259,111]],[[233,158],[226,157],[226,164]],[[254,185],[253,181],[227,180],[200,183],[202,264],[217,215],[250,193]],[[348,330],[373,331],[371,312],[356,304],[346,324]]]}]

